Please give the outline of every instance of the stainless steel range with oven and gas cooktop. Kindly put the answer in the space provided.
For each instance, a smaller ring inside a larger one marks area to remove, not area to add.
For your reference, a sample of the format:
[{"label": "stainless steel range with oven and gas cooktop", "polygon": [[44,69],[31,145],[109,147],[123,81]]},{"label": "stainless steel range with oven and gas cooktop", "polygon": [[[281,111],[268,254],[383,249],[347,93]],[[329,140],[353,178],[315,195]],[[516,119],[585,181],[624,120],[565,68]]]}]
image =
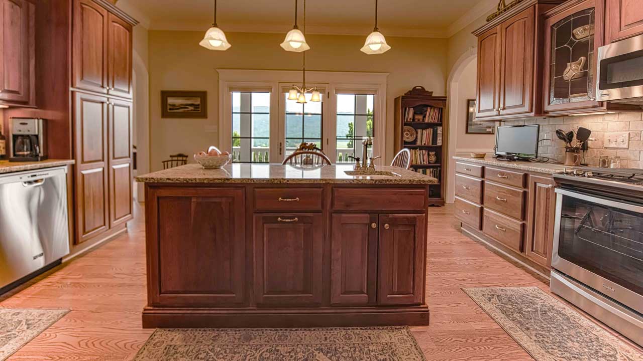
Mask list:
[{"label": "stainless steel range with oven and gas cooktop", "polygon": [[550,289],[643,346],[643,170],[555,174]]}]

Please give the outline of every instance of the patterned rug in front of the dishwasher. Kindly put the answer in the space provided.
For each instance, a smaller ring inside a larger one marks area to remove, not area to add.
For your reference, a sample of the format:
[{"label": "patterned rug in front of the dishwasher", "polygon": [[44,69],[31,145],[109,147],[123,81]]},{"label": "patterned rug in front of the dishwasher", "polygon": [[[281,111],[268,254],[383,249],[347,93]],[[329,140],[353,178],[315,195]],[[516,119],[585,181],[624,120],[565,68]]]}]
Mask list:
[{"label": "patterned rug in front of the dishwasher", "polygon": [[0,308],[0,361],[6,360],[69,310]]}]

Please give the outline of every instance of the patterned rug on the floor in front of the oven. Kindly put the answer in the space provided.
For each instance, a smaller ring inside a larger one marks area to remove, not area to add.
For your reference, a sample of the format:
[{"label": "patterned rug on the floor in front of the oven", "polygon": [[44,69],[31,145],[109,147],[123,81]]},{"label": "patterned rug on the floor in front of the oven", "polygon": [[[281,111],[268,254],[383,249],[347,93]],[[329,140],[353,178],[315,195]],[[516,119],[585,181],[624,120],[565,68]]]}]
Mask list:
[{"label": "patterned rug on the floor in front of the oven", "polygon": [[536,361],[643,361],[643,354],[537,287],[462,288]]}]

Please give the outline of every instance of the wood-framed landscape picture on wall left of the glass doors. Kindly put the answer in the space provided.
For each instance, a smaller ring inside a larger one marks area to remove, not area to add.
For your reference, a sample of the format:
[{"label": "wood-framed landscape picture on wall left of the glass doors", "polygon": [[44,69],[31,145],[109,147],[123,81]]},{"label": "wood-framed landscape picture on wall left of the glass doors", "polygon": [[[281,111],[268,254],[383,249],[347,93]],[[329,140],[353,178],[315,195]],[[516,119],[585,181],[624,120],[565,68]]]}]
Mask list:
[{"label": "wood-framed landscape picture on wall left of the glass doors", "polygon": [[161,91],[161,118],[208,118],[208,92]]}]

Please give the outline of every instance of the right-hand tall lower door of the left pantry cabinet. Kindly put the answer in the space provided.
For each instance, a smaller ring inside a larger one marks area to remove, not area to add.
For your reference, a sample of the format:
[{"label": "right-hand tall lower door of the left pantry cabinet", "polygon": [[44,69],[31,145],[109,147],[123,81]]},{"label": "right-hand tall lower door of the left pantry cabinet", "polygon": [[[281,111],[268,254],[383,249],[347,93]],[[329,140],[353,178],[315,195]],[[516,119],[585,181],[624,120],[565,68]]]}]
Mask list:
[{"label": "right-hand tall lower door of the left pantry cabinet", "polygon": [[109,221],[132,219],[132,103],[109,101]]}]

